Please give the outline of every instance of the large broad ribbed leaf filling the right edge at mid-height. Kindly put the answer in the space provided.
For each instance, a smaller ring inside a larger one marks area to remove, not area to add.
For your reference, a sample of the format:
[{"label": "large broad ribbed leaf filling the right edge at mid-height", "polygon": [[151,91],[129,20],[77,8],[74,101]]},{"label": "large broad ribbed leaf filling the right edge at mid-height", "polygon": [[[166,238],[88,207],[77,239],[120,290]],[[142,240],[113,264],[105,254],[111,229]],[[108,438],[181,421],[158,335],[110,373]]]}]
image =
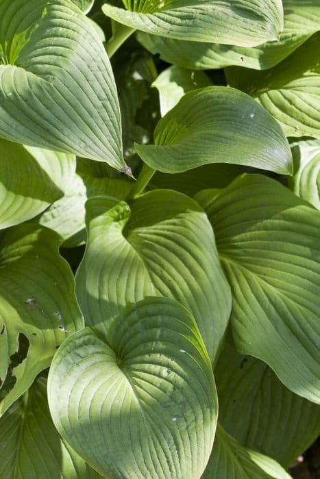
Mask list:
[{"label": "large broad ribbed leaf filling the right edge at mid-height", "polygon": [[262,175],[200,192],[232,286],[236,348],[320,402],[320,213]]}]

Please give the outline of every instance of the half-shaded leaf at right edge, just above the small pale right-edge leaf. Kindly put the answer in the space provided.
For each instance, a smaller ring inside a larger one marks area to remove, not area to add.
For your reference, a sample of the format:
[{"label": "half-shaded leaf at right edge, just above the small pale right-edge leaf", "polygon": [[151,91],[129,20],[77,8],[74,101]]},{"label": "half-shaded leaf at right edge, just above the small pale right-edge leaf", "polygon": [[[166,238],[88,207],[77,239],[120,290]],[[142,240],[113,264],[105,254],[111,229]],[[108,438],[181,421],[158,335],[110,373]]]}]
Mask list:
[{"label": "half-shaded leaf at right edge, just above the small pale right-edge leaf", "polygon": [[287,136],[320,138],[320,33],[268,73],[227,68],[231,86],[251,94],[280,122]]}]

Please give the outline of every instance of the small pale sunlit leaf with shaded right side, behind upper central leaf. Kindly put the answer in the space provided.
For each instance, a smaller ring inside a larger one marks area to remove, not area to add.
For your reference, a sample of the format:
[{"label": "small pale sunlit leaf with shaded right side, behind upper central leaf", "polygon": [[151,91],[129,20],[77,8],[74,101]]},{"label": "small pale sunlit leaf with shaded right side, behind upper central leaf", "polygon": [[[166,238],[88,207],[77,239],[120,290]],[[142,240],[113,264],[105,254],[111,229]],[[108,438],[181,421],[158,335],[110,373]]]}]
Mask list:
[{"label": "small pale sunlit leaf with shaded right side, behind upper central leaf", "polygon": [[186,92],[212,85],[212,81],[202,72],[190,72],[184,68],[170,66],[153,81],[159,91],[160,111],[164,116]]}]

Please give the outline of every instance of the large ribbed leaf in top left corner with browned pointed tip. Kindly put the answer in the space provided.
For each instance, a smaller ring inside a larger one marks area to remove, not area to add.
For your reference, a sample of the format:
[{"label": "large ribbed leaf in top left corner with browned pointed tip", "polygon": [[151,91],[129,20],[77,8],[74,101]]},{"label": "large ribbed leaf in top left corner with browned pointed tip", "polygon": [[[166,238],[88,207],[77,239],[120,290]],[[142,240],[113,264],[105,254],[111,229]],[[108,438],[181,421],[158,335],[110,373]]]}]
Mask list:
[{"label": "large ribbed leaf in top left corner with browned pointed tip", "polygon": [[116,86],[91,21],[69,0],[1,0],[0,18],[0,136],[121,170]]}]

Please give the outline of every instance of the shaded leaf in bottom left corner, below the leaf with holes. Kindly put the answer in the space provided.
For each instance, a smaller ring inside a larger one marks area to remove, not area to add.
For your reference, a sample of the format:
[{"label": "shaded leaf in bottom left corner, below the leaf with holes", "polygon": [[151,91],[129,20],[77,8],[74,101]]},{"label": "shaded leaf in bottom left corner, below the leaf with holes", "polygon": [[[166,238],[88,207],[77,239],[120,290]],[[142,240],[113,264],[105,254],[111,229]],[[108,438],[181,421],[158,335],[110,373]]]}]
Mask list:
[{"label": "shaded leaf in bottom left corner, below the leaf with holes", "polygon": [[5,479],[99,479],[53,425],[47,380],[38,378],[0,419],[0,476]]}]

